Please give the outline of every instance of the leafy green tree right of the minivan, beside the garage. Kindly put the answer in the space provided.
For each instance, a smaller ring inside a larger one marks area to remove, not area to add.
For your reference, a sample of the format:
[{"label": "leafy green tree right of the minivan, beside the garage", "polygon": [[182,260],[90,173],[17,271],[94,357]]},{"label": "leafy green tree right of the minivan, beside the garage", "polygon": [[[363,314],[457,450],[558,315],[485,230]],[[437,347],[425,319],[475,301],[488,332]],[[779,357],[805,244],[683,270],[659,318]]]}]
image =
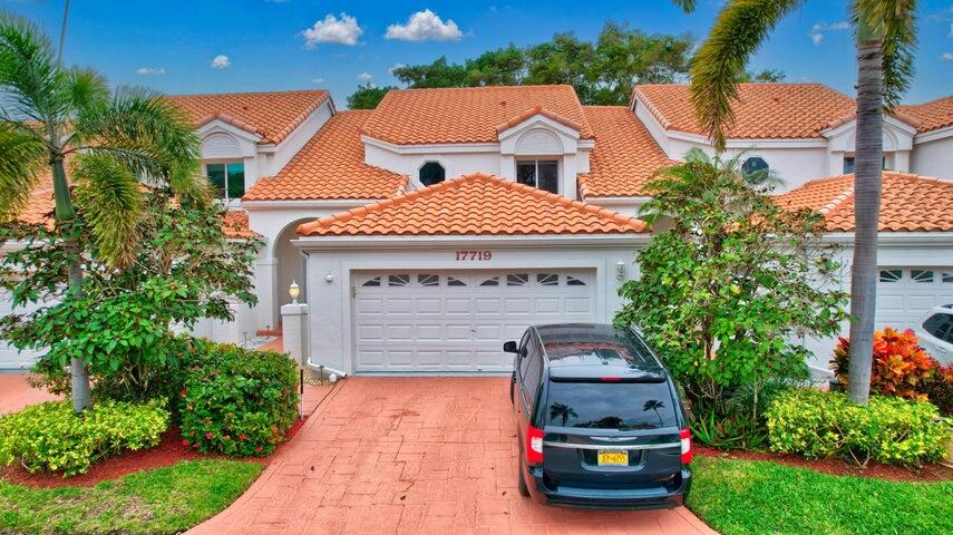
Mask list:
[{"label": "leafy green tree right of the minivan, beside the garage", "polygon": [[845,318],[823,217],[779,206],[738,159],[693,149],[648,185],[642,215],[670,227],[639,252],[640,278],[620,289],[615,318],[642,327],[706,407],[746,385],[803,377],[808,351],[791,338],[833,334]]}]

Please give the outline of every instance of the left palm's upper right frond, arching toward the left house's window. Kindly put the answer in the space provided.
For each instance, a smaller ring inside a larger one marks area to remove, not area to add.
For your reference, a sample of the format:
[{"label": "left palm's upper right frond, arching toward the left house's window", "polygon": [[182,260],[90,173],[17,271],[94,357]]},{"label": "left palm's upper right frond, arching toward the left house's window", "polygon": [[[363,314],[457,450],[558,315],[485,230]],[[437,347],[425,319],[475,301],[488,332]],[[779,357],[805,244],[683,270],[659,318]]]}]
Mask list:
[{"label": "left palm's upper right frond, arching toward the left house's window", "polygon": [[110,101],[80,108],[74,129],[74,144],[115,154],[140,179],[165,183],[183,196],[206,192],[195,129],[182,109],[158,94],[119,88]]}]

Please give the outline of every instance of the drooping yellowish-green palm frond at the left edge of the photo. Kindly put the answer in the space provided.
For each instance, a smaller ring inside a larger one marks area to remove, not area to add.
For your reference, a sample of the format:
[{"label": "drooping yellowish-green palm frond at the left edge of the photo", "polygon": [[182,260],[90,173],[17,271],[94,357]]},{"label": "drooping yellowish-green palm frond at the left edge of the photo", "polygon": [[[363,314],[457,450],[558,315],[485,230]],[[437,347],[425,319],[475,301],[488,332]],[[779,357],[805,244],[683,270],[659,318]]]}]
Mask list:
[{"label": "drooping yellowish-green palm frond at the left edge of the photo", "polygon": [[19,215],[47,163],[43,140],[11,123],[0,123],[0,222]]}]

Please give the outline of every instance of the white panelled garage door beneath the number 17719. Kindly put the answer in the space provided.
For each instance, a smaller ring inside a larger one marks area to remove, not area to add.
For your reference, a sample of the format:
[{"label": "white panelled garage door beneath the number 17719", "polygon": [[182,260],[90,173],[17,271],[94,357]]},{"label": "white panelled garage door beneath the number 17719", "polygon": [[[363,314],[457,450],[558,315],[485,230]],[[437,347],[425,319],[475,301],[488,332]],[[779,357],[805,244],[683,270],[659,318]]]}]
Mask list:
[{"label": "white panelled garage door beneath the number 17719", "polygon": [[595,271],[388,271],[354,276],[358,372],[500,372],[531,324],[595,319]]}]

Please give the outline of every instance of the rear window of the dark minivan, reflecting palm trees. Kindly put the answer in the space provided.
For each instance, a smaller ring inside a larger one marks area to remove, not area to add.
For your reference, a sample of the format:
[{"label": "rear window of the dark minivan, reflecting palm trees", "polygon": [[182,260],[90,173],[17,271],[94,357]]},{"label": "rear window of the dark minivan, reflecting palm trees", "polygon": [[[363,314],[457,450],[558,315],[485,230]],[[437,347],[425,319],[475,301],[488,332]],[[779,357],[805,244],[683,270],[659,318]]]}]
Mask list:
[{"label": "rear window of the dark minivan, reflecting palm trees", "polygon": [[551,426],[621,431],[678,426],[664,381],[551,382],[545,418]]}]

